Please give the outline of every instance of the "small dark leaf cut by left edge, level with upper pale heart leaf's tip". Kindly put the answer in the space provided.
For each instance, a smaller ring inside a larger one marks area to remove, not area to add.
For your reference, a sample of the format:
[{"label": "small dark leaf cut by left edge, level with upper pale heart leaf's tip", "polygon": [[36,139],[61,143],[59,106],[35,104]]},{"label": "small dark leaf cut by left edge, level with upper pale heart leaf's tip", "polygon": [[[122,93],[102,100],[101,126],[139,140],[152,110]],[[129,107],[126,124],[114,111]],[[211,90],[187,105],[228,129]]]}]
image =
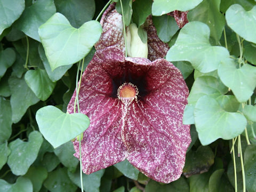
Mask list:
[{"label": "small dark leaf cut by left edge, level with upper pale heart leaf's tip", "polygon": [[0,79],[4,76],[7,68],[15,61],[15,52],[11,48],[0,51]]}]

